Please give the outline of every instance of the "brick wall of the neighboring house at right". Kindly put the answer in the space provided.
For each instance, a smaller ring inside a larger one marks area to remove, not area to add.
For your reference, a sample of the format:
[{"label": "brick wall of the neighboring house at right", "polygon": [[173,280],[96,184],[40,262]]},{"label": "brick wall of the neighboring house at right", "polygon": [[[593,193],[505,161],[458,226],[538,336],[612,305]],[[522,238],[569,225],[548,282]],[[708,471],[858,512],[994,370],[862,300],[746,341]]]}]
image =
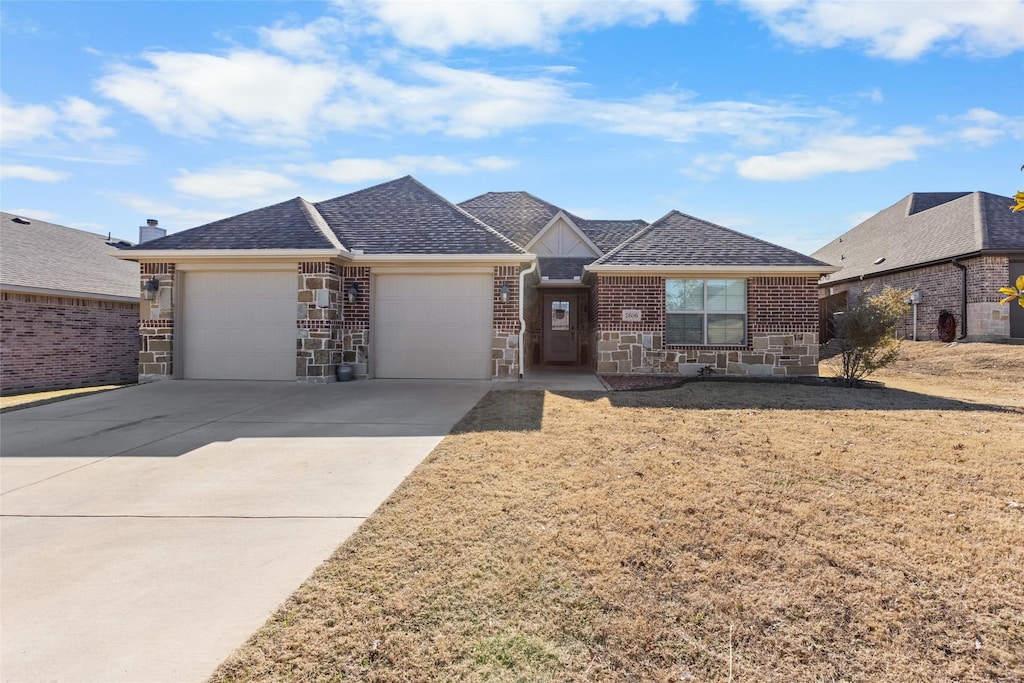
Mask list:
[{"label": "brick wall of the neighboring house at right", "polygon": [[[968,337],[976,339],[1005,338],[1010,336],[1010,311],[999,306],[999,288],[1010,282],[1009,259],[1006,256],[982,256],[961,261],[967,266]],[[853,298],[870,288],[881,292],[885,287],[902,290],[921,290],[922,302],[918,304],[918,339],[928,340],[939,322],[939,312],[946,309],[956,316],[956,336],[963,334],[961,319],[961,292],[963,275],[952,263],[939,263],[913,270],[894,272],[880,278],[840,283],[819,288],[819,295],[847,292]],[[900,323],[898,332],[904,339],[913,339],[912,310]]]}]

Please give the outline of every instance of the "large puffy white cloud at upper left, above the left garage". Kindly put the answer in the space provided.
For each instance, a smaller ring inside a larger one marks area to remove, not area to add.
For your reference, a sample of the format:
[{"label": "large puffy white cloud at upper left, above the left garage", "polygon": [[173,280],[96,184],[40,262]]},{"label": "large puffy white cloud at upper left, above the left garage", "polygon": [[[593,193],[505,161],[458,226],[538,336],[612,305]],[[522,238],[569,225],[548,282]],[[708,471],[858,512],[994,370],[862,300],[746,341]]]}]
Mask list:
[{"label": "large puffy white cloud at upper left, above the left garage", "polygon": [[166,133],[215,137],[228,129],[252,142],[296,142],[339,83],[329,63],[297,63],[252,50],[226,56],[150,52],[150,67],[122,65],[99,92]]}]

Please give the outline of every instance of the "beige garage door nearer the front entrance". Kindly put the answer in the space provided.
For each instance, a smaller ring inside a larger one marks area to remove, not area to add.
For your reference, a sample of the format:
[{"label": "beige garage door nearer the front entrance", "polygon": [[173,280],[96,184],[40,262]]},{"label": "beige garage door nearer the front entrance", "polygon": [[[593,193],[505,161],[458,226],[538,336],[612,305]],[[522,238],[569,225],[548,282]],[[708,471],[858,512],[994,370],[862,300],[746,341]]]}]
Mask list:
[{"label": "beige garage door nearer the front entrance", "polygon": [[489,274],[378,275],[374,374],[489,379],[492,287]]}]

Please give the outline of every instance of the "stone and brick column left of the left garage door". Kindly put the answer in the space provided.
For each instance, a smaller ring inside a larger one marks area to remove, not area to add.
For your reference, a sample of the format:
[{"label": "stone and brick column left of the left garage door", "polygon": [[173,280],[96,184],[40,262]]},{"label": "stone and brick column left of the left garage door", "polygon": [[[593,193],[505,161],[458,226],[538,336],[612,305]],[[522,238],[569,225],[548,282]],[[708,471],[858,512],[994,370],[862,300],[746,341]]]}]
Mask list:
[{"label": "stone and brick column left of the left garage door", "polygon": [[153,301],[140,297],[138,311],[138,381],[174,375],[174,264],[139,264],[139,291],[151,278],[160,281]]}]

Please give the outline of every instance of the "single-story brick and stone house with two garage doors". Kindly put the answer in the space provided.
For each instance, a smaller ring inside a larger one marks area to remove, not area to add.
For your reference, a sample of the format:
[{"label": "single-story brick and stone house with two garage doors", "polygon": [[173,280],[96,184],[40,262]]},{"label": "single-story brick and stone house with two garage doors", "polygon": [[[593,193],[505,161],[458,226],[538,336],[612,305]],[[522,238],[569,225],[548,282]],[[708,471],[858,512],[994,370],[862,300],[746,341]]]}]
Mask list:
[{"label": "single-story brick and stone house with two garage doors", "polygon": [[[525,193],[456,206],[412,177],[123,250],[143,379],[817,373],[830,266],[676,212],[586,220]],[[520,296],[522,293],[522,296]]]}]

